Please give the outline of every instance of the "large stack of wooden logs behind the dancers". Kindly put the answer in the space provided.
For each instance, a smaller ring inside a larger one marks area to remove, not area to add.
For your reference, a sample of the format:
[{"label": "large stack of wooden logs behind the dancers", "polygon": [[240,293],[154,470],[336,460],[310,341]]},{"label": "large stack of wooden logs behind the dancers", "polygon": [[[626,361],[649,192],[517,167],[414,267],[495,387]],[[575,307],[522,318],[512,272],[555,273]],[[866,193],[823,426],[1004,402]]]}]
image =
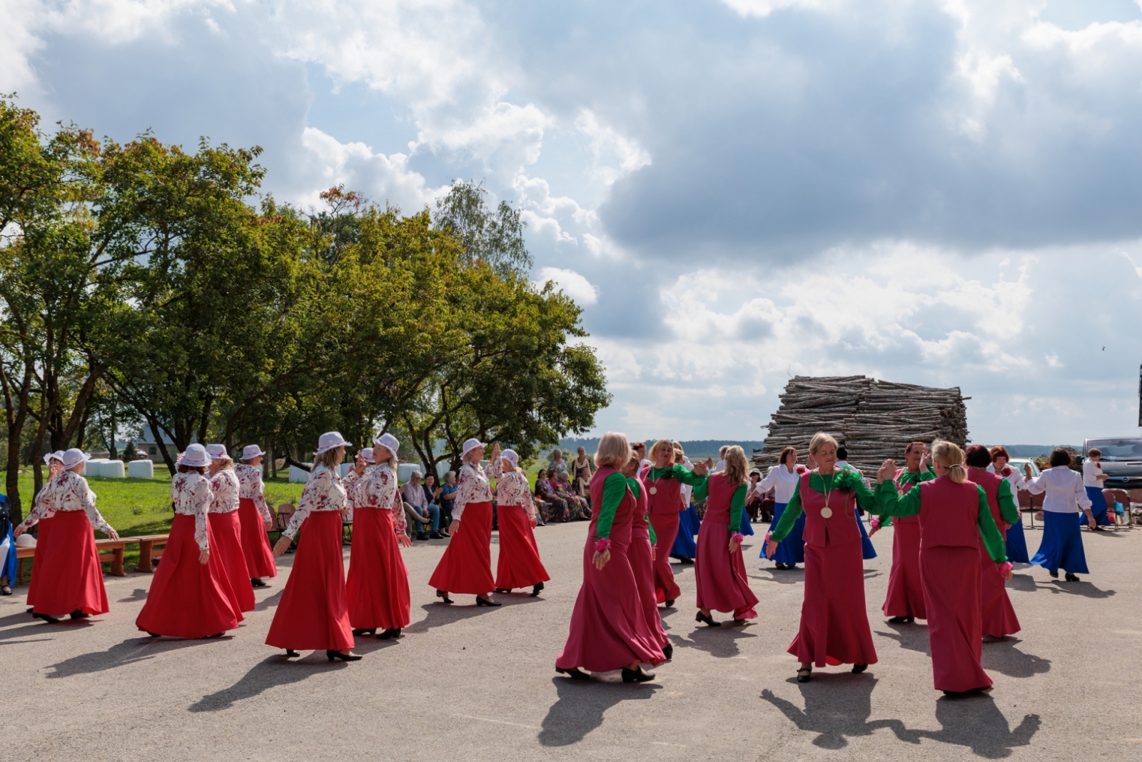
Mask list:
[{"label": "large stack of wooden logs behind the dancers", "polygon": [[[892,384],[866,376],[796,376],[781,394],[765,447],[754,451],[758,466],[777,464],[785,447],[805,462],[809,440],[828,432],[849,449],[849,463],[871,475],[885,458],[903,460],[904,448],[943,439],[964,447],[967,409],[959,387]],[[763,468],[764,471],[765,468]]]}]

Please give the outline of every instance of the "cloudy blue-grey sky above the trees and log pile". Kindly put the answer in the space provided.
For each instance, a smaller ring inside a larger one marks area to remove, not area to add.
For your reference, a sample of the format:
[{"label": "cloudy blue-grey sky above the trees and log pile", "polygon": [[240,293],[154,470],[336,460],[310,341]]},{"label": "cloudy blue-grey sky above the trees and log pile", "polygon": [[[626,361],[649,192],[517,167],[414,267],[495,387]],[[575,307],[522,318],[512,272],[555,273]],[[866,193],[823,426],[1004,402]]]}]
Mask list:
[{"label": "cloudy blue-grey sky above the trees and log pile", "polygon": [[1137,432],[1134,0],[0,0],[46,122],[260,145],[301,204],[524,210],[597,431],[761,439],[791,375],[972,396],[988,443]]}]

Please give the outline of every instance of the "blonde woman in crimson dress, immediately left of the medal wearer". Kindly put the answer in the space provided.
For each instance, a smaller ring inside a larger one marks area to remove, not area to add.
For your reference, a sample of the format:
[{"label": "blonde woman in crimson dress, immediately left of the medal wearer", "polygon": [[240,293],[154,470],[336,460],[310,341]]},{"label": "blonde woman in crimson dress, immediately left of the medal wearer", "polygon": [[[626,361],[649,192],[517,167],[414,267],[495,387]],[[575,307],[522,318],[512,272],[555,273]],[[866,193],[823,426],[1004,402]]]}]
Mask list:
[{"label": "blonde woman in crimson dress, immediately left of the medal wearer", "polygon": [[741,513],[746,510],[749,489],[749,464],[746,452],[737,444],[726,448],[722,456],[725,471],[711,475],[694,490],[698,499],[709,496],[706,515],[698,530],[698,558],[694,578],[698,583],[698,621],[710,627],[721,626],[710,610],[733,612],[733,623],[745,624],[756,619],[757,596],[749,588],[746,562],[741,558]]}]

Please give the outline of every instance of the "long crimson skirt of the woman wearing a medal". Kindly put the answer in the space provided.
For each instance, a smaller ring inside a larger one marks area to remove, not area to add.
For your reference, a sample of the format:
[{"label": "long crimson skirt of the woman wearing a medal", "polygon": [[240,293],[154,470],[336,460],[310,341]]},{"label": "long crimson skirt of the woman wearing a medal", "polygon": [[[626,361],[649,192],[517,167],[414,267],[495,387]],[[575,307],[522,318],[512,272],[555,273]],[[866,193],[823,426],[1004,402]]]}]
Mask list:
[{"label": "long crimson skirt of the woman wearing a medal", "polygon": [[789,644],[799,661],[876,664],[864,610],[864,563],[859,539],[805,545],[805,600],[801,629]]}]

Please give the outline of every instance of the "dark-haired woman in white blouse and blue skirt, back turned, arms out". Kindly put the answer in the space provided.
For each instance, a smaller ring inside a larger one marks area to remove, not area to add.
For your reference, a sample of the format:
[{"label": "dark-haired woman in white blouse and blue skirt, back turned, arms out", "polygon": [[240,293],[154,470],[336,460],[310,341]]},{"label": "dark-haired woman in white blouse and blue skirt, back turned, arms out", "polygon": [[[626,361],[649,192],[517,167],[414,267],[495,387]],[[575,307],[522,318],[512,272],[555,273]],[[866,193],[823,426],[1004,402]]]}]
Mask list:
[{"label": "dark-haired woman in white blouse and blue skirt, back turned, arms out", "polygon": [[1051,467],[1031,476],[1031,466],[1024,465],[1027,489],[1032,495],[1046,492],[1043,499],[1043,540],[1031,563],[1046,569],[1059,578],[1059,570],[1067,572],[1067,581],[1078,581],[1078,573],[1087,573],[1083,534],[1075,514],[1086,514],[1091,529],[1097,524],[1091,512],[1091,498],[1083,489],[1083,476],[1070,468],[1070,454],[1059,448],[1051,454]]}]

